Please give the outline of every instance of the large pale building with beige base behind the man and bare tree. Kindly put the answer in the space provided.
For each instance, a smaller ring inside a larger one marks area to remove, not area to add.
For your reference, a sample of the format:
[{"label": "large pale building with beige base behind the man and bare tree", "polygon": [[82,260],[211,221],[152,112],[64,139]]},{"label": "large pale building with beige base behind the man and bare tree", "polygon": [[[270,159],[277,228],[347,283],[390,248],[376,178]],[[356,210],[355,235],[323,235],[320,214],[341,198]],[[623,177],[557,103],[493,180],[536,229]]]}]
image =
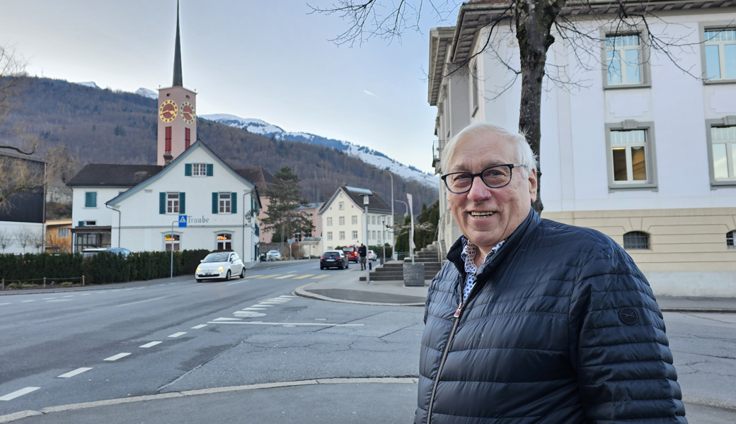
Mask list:
[{"label": "large pale building with beige base behind the man and bare tree", "polygon": [[[548,52],[548,70],[582,83],[546,84],[542,95],[542,217],[608,234],[656,293],[736,295],[734,5],[631,3],[632,11],[648,7],[658,18],[625,32],[601,26],[575,9],[581,5],[563,15],[601,43],[573,51],[556,35]],[[518,68],[516,37],[508,22],[493,33],[486,26],[506,6],[471,1],[457,26],[431,30],[438,172],[442,148],[465,126],[518,128],[521,83],[502,63]],[[682,46],[671,48],[674,61],[651,48],[648,32]],[[444,184],[439,190],[446,251],[460,234]]]}]

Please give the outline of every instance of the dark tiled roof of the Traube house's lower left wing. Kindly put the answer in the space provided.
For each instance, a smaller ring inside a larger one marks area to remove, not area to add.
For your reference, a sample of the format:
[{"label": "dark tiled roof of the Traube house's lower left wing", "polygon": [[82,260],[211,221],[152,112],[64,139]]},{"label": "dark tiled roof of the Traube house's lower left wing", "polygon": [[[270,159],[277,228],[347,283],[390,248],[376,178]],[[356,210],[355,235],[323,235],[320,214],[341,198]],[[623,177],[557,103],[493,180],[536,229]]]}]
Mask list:
[{"label": "dark tiled roof of the Traube house's lower left wing", "polygon": [[135,187],[163,170],[161,165],[85,165],[66,185],[86,187]]}]

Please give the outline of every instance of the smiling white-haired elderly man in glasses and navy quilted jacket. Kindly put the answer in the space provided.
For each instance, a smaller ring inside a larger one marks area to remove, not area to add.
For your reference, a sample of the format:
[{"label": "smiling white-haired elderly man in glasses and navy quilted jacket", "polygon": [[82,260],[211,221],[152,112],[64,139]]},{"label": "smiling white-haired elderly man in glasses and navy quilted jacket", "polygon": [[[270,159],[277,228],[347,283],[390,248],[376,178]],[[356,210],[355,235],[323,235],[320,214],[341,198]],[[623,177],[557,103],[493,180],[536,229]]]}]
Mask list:
[{"label": "smiling white-haired elderly man in glasses and navy quilted jacket", "polygon": [[441,165],[463,236],[429,287],[415,423],[687,423],[643,273],[531,209],[524,137],[469,126]]}]

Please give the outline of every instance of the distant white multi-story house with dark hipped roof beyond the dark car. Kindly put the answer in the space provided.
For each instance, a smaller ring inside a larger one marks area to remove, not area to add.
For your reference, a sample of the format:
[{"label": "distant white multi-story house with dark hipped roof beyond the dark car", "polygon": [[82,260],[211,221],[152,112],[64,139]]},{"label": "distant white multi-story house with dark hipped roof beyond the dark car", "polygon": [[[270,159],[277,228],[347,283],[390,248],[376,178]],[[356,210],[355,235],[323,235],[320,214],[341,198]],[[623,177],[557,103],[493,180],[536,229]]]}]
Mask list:
[{"label": "distant white multi-story house with dark hipped roof beyond the dark car", "polygon": [[[367,217],[363,203],[366,195],[369,198]],[[391,206],[372,190],[339,187],[318,213],[322,218],[322,246],[325,251],[361,243],[367,246],[394,245]]]}]

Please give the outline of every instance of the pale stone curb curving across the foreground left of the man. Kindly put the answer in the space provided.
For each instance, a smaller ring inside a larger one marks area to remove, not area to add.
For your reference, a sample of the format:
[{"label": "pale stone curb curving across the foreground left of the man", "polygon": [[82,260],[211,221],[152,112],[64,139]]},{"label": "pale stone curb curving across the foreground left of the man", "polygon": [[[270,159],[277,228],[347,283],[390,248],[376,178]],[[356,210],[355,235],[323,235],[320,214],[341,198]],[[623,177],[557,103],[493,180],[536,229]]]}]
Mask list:
[{"label": "pale stone curb curving across the foreground left of the man", "polygon": [[415,377],[377,377],[377,378],[318,378],[314,380],[283,381],[280,383],[250,384],[247,386],[216,387],[214,389],[185,390],[183,392],[160,393],[159,395],[135,396],[133,398],[118,398],[97,400],[96,402],[71,403],[69,405],[49,406],[40,411],[26,410],[13,414],[0,415],[0,423],[10,423],[35,415],[52,414],[54,412],[75,411],[78,409],[96,408],[98,406],[120,405],[122,403],[146,402],[149,400],[182,398],[184,396],[211,395],[223,392],[238,392],[241,390],[275,389],[278,387],[310,386],[314,384],[417,384]]}]

